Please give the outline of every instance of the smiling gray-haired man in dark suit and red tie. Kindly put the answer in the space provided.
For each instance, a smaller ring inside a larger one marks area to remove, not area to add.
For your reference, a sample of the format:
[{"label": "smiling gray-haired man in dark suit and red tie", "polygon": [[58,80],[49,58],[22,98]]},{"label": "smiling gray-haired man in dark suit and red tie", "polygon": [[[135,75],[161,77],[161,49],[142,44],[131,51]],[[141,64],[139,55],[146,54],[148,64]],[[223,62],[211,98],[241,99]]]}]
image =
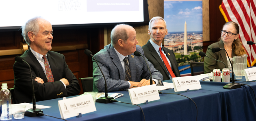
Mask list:
[{"label": "smiling gray-haired man in dark suit and red tie", "polygon": [[142,46],[146,58],[163,75],[163,80],[180,77],[180,71],[174,52],[163,47],[162,41],[167,35],[166,22],[162,17],[154,17],[148,25],[150,40]]}]

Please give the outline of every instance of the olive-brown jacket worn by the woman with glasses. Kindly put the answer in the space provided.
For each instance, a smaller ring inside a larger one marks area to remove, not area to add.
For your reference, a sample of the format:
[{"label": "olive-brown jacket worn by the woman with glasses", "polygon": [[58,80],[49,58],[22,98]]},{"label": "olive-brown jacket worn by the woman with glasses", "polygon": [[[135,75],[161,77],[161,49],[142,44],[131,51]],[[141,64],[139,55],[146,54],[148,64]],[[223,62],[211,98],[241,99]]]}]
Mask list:
[{"label": "olive-brown jacket worn by the woman with glasses", "polygon": [[[217,48],[217,47],[224,48],[224,43],[222,40],[220,40],[219,42],[215,42],[215,43],[211,44],[210,46],[208,46],[206,55],[210,58],[214,58],[216,60],[220,60],[220,61],[224,62],[228,68],[228,64],[230,62],[227,59],[225,50],[221,50],[221,51],[215,52],[215,53],[212,52],[212,48]],[[234,49],[232,49],[231,57],[233,58],[234,56],[235,56]],[[210,59],[208,57],[204,58],[204,73],[211,73],[211,72],[213,72],[213,69],[220,69],[220,71],[222,71],[222,69],[225,68],[225,65],[223,63],[213,60],[213,59]],[[231,61],[231,62],[233,65],[233,61]]]}]

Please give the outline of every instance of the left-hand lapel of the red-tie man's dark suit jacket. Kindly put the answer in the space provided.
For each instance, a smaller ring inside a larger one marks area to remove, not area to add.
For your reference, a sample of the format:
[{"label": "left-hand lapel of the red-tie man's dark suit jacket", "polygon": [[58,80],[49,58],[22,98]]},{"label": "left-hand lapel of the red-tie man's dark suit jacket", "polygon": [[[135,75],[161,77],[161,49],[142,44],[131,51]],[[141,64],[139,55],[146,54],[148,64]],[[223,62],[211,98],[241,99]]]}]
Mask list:
[{"label": "left-hand lapel of the red-tie man's dark suit jacket", "polygon": [[152,46],[150,41],[148,41],[147,46],[148,46],[148,50],[150,51],[152,56],[154,56],[154,58],[156,58],[156,60],[159,63],[159,65],[161,65],[161,67],[163,68],[165,73],[168,75],[167,70],[165,68],[165,64],[163,63],[162,59],[160,58],[160,56],[158,55],[158,53],[156,52],[155,48]]}]

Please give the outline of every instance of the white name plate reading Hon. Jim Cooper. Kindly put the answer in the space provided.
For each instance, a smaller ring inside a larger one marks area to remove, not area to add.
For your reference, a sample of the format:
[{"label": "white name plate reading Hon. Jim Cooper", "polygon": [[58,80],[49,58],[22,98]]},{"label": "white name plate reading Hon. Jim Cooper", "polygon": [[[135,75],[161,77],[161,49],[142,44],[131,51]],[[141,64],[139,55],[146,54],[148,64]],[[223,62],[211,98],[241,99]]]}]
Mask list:
[{"label": "white name plate reading Hon. Jim Cooper", "polygon": [[143,86],[139,88],[129,89],[130,99],[133,104],[144,103],[148,100],[154,101],[159,100],[159,93],[155,84],[149,86]]}]

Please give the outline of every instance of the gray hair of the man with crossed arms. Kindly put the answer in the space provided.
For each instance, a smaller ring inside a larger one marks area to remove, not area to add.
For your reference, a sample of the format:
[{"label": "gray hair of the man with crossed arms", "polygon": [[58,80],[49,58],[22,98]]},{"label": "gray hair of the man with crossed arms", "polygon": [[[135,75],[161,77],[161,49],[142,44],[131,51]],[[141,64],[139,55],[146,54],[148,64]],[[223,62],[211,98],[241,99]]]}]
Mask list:
[{"label": "gray hair of the man with crossed arms", "polygon": [[41,17],[29,19],[26,24],[22,26],[22,36],[28,45],[31,43],[28,32],[31,31],[35,35],[39,32],[38,19],[41,19]]}]

